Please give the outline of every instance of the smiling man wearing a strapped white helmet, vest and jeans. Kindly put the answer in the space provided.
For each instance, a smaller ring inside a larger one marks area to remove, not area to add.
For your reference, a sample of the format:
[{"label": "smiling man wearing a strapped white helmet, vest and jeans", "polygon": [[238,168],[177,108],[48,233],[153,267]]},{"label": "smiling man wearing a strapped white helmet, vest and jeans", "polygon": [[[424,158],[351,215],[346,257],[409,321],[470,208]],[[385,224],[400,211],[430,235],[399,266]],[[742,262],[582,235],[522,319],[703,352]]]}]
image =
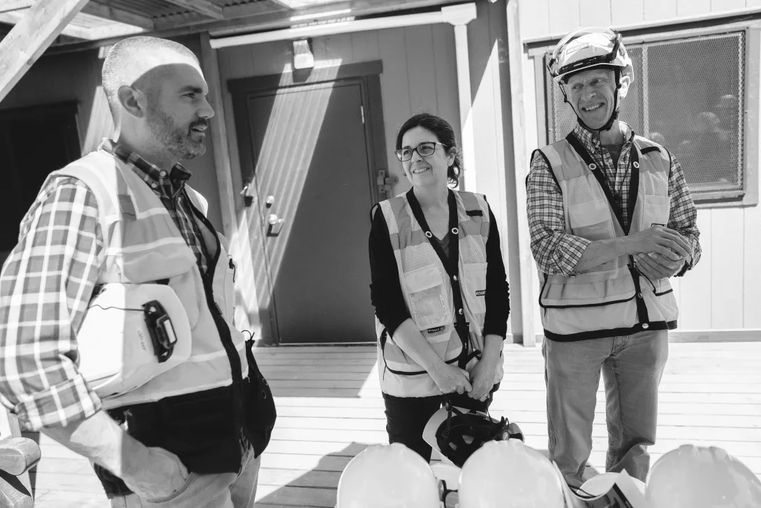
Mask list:
[{"label": "smiling man wearing a strapped white helmet, vest and jeans", "polygon": [[620,34],[574,30],[548,67],[578,117],[565,139],[533,153],[526,180],[549,457],[568,484],[583,484],[602,371],[606,470],[644,480],[668,331],[677,327],[669,278],[700,259],[696,208],[673,155],[618,119],[634,81]]}]

